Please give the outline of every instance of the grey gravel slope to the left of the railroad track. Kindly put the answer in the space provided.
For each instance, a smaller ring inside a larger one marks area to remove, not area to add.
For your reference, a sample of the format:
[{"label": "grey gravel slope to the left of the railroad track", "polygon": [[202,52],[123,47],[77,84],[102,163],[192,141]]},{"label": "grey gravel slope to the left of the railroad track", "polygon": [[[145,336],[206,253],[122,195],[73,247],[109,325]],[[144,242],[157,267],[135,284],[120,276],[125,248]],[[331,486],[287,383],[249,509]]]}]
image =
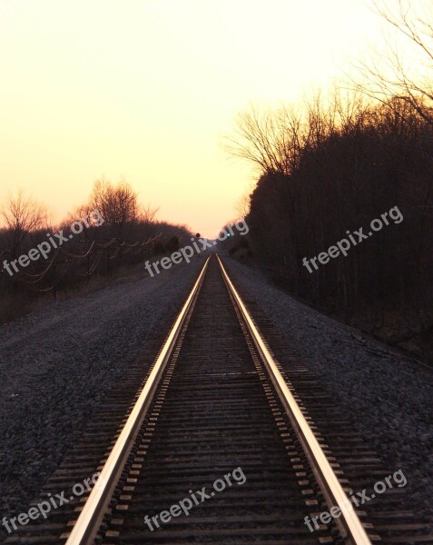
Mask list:
[{"label": "grey gravel slope to the left of the railroad track", "polygon": [[28,510],[98,400],[175,318],[202,263],[117,282],[0,327],[0,519]]}]

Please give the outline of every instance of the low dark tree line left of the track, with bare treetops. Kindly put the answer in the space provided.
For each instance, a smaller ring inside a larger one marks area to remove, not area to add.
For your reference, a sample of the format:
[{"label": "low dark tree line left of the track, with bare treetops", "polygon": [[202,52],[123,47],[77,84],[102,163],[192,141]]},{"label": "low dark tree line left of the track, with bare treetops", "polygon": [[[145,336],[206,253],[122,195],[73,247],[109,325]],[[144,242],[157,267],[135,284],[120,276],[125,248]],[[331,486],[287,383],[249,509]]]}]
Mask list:
[{"label": "low dark tree line left of the track, with bare treetops", "polygon": [[122,266],[172,252],[191,236],[183,225],[158,221],[157,209],[141,205],[125,181],[96,181],[87,202],[58,225],[43,204],[23,192],[11,195],[0,213],[4,298],[57,295],[91,276],[111,275]]}]

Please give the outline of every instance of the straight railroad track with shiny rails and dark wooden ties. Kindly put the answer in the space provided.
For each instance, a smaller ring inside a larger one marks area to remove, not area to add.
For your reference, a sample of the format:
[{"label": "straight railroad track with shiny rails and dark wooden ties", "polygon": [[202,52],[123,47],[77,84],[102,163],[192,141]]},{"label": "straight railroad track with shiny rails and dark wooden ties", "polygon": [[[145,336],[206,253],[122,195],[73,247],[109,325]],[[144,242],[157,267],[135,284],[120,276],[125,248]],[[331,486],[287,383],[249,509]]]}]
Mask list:
[{"label": "straight railroad track with shiny rails and dark wooden ties", "polygon": [[148,367],[137,362],[45,485],[45,499],[70,501],[6,543],[433,543],[399,507],[404,490],[373,509],[348,500],[389,473],[300,362],[282,370],[219,258]]}]

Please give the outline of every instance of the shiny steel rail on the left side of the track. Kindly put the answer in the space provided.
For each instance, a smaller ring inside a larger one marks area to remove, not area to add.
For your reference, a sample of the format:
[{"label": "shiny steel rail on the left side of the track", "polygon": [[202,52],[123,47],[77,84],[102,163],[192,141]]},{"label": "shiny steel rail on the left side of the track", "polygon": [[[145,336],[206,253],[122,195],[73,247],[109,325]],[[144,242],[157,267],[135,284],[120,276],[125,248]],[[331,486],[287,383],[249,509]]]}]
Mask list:
[{"label": "shiny steel rail on the left side of the track", "polygon": [[192,307],[194,297],[200,290],[209,259],[210,257],[208,257],[206,263],[204,263],[192,291],[183,304],[182,310],[176,318],[176,321],[172,325],[167,341],[164,343],[162,351],[153,365],[153,370],[145,382],[138,400],[133,406],[133,411],[131,411],[128,420],[124,424],[123,430],[115,442],[113,450],[105,462],[103,470],[101,471],[98,480],[95,482],[93,490],[86,500],[80,516],[74,524],[73,530],[66,540],[66,545],[90,545],[93,543],[101,526],[105,510],[113,496],[113,491],[122,475],[124,465],[133,448],[133,443],[138,431],[142,426],[144,416],[152,402],[153,393],[158,386],[162,377],[162,372],[164,371],[167,362],[170,360],[172,350],[182,332],[182,326]]}]

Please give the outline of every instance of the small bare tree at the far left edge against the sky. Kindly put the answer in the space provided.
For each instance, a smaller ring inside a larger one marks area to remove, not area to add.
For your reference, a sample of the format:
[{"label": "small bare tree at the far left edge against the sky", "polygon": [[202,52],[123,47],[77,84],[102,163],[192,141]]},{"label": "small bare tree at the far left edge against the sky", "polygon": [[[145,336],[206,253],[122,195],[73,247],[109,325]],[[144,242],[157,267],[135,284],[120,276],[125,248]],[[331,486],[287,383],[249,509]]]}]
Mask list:
[{"label": "small bare tree at the far left edge against the sky", "polygon": [[21,253],[26,237],[48,223],[44,205],[25,196],[21,190],[15,196],[9,195],[1,215],[10,234],[10,252],[14,258]]}]

